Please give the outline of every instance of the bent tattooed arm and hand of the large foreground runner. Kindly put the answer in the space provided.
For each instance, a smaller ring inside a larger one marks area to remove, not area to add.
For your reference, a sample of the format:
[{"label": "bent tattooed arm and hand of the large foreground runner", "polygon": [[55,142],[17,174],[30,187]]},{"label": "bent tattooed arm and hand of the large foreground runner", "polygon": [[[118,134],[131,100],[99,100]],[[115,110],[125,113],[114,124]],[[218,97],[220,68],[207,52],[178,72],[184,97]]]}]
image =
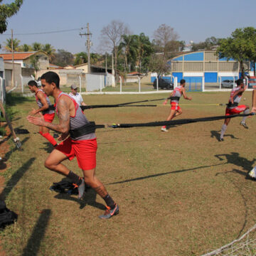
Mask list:
[{"label": "bent tattooed arm and hand of the large foreground runner", "polygon": [[62,134],[66,135],[70,130],[70,108],[67,97],[60,97],[60,99],[58,100],[58,113],[59,124],[46,122],[43,119],[42,114],[41,117],[28,116],[27,119],[28,122],[31,122],[31,124],[48,127],[49,129],[52,129],[55,132],[61,132]]}]

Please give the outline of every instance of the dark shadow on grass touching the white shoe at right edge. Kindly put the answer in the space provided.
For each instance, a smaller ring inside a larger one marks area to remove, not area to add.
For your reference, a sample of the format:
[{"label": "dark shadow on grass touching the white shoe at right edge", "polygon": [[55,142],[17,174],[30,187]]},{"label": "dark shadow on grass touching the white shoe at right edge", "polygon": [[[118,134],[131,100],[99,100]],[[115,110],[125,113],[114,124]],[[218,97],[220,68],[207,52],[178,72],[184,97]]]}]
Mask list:
[{"label": "dark shadow on grass touching the white shoe at right edge", "polygon": [[[227,160],[227,164],[235,164],[236,166],[241,166],[245,171],[250,171],[252,169],[252,164],[254,164],[256,159],[249,161],[245,157],[239,156],[237,152],[231,152],[230,154],[218,154],[215,155],[220,161],[223,161],[223,157]],[[241,171],[240,171],[241,172]],[[246,174],[245,174],[246,175]]]}]

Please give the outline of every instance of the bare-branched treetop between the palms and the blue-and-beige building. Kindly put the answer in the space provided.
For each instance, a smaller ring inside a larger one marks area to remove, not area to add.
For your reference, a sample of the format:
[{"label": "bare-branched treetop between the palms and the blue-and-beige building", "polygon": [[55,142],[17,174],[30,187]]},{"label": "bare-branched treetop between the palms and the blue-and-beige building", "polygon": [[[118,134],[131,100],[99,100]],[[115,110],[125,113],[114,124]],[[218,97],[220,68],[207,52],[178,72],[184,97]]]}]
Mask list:
[{"label": "bare-branched treetop between the palms and the blue-and-beige building", "polygon": [[178,33],[174,32],[174,28],[167,26],[166,24],[161,24],[159,28],[154,31],[154,43],[158,46],[158,50],[166,55],[171,51],[172,43],[178,39]]}]

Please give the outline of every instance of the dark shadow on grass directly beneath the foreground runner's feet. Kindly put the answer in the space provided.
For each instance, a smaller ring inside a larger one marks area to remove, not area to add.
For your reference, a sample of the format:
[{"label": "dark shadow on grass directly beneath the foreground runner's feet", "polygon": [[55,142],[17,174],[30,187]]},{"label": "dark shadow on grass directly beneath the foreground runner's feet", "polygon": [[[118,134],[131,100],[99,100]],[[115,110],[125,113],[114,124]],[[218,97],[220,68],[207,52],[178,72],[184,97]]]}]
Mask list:
[{"label": "dark shadow on grass directly beneath the foreground runner's feet", "polygon": [[[61,181],[70,181],[67,178],[63,178]],[[54,198],[74,201],[80,204],[80,209],[85,208],[86,205],[105,210],[105,206],[102,203],[96,202],[97,193],[92,188],[88,189],[82,199],[78,199],[77,195],[69,195],[68,193],[58,193]]]}]

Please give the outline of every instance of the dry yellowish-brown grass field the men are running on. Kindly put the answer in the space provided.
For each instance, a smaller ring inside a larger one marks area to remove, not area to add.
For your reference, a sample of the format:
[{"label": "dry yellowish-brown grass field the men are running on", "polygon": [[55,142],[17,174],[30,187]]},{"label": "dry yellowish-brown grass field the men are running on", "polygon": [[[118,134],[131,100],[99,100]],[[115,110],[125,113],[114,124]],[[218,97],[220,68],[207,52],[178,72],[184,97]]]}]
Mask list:
[{"label": "dry yellowish-brown grass field the men are running on", "polygon": [[[251,105],[245,92],[242,104]],[[223,115],[229,92],[188,93],[178,119]],[[88,95],[87,105],[157,99],[166,95]],[[153,104],[161,104],[154,102]],[[145,104],[149,104],[146,102]],[[194,105],[194,106],[193,106]],[[18,213],[18,221],[0,231],[6,255],[202,255],[239,238],[256,222],[255,181],[247,172],[256,164],[256,119],[231,120],[225,141],[218,142],[223,120],[160,127],[97,129],[97,176],[119,204],[120,213],[100,220],[104,201],[88,191],[84,201],[50,191],[63,176],[48,171],[52,150],[26,122],[36,102],[12,106],[23,151],[6,160],[1,199]],[[96,124],[163,121],[169,107],[100,108],[85,112]],[[56,121],[55,121],[56,122]],[[76,160],[65,164],[81,175]]]}]

